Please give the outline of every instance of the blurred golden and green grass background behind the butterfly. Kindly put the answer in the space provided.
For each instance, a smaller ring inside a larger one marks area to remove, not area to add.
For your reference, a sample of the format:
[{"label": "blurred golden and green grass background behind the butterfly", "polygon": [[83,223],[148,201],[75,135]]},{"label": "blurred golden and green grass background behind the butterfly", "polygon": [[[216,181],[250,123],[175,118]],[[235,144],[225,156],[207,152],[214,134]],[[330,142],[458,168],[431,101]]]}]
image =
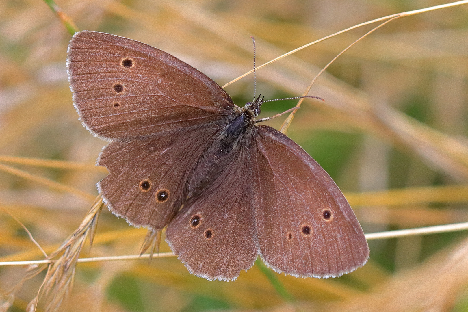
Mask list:
[{"label": "blurred golden and green grass background behind the butterfly", "polygon": [[[79,29],[150,44],[220,85],[252,69],[251,35],[261,64],[354,24],[442,3],[57,2]],[[301,95],[324,65],[372,27],[260,69],[257,94],[265,99]],[[43,1],[0,1],[0,207],[20,219],[48,253],[80,224],[97,195],[95,183],[106,175],[104,168],[94,167],[105,142],[82,127],[73,109],[65,65],[69,40]],[[467,61],[468,5],[398,19],[356,44],[322,74],[310,94],[325,103],[306,100],[297,112],[288,135],[344,191],[364,232],[468,221]],[[253,96],[253,75],[226,90],[243,106]],[[261,117],[295,103],[266,103]],[[284,117],[269,124],[278,129]],[[93,248],[85,248],[82,256],[138,253],[146,234],[107,210],[97,231]],[[73,293],[61,309],[468,311],[465,237],[466,232],[450,232],[369,241],[371,257],[363,268],[329,280],[278,275],[258,264],[235,282],[209,282],[191,276],[175,257],[151,264],[79,264]],[[161,252],[166,251],[162,243]],[[0,210],[0,261],[41,257],[22,227]],[[21,267],[0,268],[0,292],[13,287],[24,272]],[[43,278],[25,283],[9,311],[24,311]]]}]

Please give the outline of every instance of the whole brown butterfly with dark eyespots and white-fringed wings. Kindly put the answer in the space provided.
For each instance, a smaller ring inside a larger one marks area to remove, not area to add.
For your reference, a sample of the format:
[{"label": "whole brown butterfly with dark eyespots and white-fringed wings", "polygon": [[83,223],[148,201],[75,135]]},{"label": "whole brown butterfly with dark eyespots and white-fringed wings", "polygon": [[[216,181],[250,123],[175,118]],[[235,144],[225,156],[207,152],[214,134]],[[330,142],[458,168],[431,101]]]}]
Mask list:
[{"label": "whole brown butterfly with dark eyespots and white-fringed wings", "polygon": [[350,205],[299,145],[256,124],[205,74],[149,45],[93,31],[68,48],[83,125],[110,140],[98,160],[109,209],[160,230],[190,273],[234,280],[260,254],[276,272],[335,277],[369,248]]}]

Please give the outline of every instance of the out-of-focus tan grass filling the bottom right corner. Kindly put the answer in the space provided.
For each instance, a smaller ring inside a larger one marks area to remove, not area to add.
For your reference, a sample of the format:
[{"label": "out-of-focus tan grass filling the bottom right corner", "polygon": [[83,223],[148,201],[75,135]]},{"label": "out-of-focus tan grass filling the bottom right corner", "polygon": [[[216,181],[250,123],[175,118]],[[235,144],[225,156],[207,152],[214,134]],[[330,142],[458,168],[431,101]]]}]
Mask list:
[{"label": "out-of-focus tan grass filling the bottom right corner", "polygon": [[468,239],[454,251],[441,252],[417,268],[397,274],[377,289],[338,305],[336,312],[451,311],[468,283]]}]

